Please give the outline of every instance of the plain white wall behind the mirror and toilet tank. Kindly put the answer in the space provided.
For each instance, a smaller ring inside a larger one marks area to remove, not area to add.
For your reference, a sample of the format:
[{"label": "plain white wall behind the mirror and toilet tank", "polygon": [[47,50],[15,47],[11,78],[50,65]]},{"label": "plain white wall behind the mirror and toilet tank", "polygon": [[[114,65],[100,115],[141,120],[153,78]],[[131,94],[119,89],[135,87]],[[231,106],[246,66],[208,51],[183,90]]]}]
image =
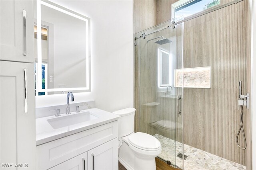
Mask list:
[{"label": "plain white wall behind the mirror and toilet tank", "polygon": [[[134,107],[132,0],[52,2],[91,19],[92,92],[75,93],[75,102],[95,100],[110,112]],[[36,107],[65,103],[65,94],[36,97]]]}]

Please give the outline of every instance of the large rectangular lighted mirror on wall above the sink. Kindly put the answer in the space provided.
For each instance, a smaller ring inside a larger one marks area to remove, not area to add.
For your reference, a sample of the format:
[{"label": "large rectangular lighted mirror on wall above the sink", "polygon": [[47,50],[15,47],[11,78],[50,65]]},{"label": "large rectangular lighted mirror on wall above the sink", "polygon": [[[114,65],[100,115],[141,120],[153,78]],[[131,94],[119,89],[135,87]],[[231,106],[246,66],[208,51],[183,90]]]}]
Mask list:
[{"label": "large rectangular lighted mirror on wall above the sink", "polygon": [[89,92],[90,18],[49,1],[36,10],[36,95]]}]

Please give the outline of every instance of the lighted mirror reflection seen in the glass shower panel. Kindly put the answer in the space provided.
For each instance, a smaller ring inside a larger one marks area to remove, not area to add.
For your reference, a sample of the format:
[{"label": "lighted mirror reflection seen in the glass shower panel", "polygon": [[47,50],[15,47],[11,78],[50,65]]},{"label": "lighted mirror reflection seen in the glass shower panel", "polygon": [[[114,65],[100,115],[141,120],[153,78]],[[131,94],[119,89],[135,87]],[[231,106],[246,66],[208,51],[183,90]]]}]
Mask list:
[{"label": "lighted mirror reflection seen in the glass shower panel", "polygon": [[170,86],[170,54],[158,49],[158,87]]}]

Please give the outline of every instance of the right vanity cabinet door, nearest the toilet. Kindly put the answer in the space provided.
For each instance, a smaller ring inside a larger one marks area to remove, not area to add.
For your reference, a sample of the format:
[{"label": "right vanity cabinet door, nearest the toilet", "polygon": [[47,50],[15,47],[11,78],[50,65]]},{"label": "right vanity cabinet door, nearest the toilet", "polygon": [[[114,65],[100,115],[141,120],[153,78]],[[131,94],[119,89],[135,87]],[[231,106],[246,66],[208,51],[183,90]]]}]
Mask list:
[{"label": "right vanity cabinet door, nearest the toilet", "polygon": [[118,170],[118,138],[88,151],[88,170]]}]

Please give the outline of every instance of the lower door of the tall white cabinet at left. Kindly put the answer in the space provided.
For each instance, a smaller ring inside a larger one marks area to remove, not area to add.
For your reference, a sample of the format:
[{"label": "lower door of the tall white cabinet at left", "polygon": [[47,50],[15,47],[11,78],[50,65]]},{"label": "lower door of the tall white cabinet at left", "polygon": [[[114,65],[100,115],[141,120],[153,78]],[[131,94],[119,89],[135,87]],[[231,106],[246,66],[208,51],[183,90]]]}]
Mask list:
[{"label": "lower door of the tall white cabinet at left", "polygon": [[[24,69],[26,69],[26,78]],[[0,161],[2,169],[5,169],[3,164],[15,166],[16,163],[23,164],[22,166],[27,166],[27,168],[13,168],[15,170],[35,169],[34,76],[34,64],[0,61]]]}]

